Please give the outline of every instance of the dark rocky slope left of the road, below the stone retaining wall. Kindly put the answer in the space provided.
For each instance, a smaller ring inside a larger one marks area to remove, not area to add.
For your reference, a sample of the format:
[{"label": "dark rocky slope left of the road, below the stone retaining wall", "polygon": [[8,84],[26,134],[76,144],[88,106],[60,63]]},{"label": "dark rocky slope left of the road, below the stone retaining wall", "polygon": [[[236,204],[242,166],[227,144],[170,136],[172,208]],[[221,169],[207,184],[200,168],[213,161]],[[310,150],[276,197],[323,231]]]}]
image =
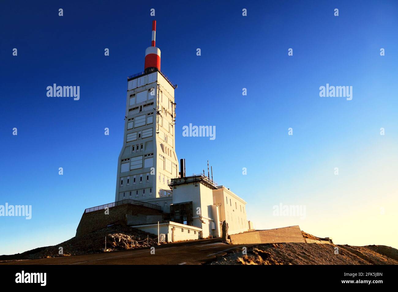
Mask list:
[{"label": "dark rocky slope left of the road, below the stone retaining wall", "polygon": [[[88,253],[104,252],[106,236],[106,251],[145,248],[157,245],[156,236],[133,229],[129,226],[112,225],[96,230],[80,238],[73,237],[56,246],[36,248],[15,255],[2,255],[0,261],[18,259],[41,259],[46,257],[60,257],[70,255],[82,255]],[[63,254],[59,254],[59,248],[63,248]]]}]

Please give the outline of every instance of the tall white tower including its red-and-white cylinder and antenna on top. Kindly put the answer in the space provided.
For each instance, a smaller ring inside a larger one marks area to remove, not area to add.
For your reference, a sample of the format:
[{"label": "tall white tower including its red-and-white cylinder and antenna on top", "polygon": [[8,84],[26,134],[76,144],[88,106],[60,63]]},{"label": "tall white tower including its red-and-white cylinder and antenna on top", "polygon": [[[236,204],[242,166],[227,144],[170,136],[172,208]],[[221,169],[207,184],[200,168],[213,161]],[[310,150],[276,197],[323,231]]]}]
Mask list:
[{"label": "tall white tower including its red-and-white cylinder and antenna on top", "polygon": [[169,212],[172,190],[168,181],[179,176],[175,151],[175,86],[160,71],[160,50],[145,52],[144,71],[127,78],[123,147],[117,165],[115,201],[133,199]]}]

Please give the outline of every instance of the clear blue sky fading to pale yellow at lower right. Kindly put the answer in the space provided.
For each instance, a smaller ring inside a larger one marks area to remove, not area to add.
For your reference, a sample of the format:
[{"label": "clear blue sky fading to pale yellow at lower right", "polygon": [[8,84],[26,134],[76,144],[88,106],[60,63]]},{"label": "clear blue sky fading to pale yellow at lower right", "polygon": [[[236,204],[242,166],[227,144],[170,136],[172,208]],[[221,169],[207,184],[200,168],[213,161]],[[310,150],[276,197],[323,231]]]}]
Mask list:
[{"label": "clear blue sky fading to pale yellow at lower right", "polygon": [[[0,5],[0,205],[32,205],[31,220],[0,217],[0,255],[68,240],[85,208],[114,200],[127,76],[144,69],[154,19],[187,174],[209,160],[256,229],[398,248],[396,1]],[[80,86],[80,100],[47,97],[53,83]],[[352,100],[320,97],[327,83]],[[190,123],[216,139],[183,137]],[[305,218],[274,216],[281,203]]]}]

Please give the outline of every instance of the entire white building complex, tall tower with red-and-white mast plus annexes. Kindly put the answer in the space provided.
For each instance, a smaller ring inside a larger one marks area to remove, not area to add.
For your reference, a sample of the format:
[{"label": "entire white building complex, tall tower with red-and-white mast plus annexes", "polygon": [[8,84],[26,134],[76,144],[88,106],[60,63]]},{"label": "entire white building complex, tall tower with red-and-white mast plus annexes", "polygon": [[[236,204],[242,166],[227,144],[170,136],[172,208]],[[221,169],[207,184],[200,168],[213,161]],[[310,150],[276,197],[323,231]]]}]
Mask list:
[{"label": "entire white building complex, tall tower with red-and-white mast plus annexes", "polygon": [[[156,21],[152,24],[152,46],[146,49],[144,72],[128,77],[123,147],[117,166],[115,202],[145,201],[162,207],[170,219],[133,227],[153,234],[166,234],[168,241],[245,232],[246,202],[204,174],[185,177],[178,172],[175,151],[175,86],[160,71],[160,50],[155,46]],[[180,177],[181,176],[181,177]],[[123,203],[123,202],[122,202]]]}]

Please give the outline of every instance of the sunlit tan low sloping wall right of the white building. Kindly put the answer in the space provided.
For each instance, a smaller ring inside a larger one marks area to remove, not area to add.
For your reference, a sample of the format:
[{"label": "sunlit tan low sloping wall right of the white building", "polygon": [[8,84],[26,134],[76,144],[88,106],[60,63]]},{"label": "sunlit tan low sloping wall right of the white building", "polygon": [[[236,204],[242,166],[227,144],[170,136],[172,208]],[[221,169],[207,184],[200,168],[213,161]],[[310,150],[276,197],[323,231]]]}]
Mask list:
[{"label": "sunlit tan low sloping wall right of the white building", "polygon": [[269,230],[256,230],[230,235],[232,244],[264,244],[277,242],[304,242],[300,226],[289,226]]}]

